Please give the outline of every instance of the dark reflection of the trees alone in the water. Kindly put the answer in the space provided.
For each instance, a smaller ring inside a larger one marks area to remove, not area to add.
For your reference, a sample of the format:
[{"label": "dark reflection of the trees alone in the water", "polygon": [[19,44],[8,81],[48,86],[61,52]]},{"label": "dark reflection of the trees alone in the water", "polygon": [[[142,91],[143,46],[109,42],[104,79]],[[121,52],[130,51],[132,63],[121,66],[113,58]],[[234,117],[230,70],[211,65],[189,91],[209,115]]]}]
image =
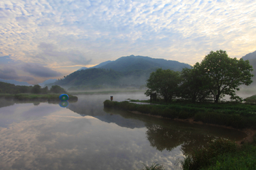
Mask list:
[{"label": "dark reflection of the trees alone in the water", "polygon": [[174,126],[164,126],[153,123],[146,123],[146,137],[151,147],[155,147],[159,151],[164,149],[171,151],[175,147],[181,145],[184,154],[188,154],[193,148],[202,147],[210,140],[217,137],[213,135],[204,135],[196,132],[195,129],[185,129]]}]

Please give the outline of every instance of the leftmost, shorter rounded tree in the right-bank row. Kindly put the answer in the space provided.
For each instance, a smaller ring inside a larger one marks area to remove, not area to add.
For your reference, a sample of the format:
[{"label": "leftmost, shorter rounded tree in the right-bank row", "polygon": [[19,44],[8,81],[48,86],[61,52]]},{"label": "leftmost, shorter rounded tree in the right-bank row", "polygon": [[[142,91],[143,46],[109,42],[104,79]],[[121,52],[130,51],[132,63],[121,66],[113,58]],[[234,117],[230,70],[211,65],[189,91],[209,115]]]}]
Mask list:
[{"label": "leftmost, shorter rounded tree in the right-bank row", "polygon": [[178,92],[178,84],[181,83],[179,72],[170,69],[156,69],[151,72],[149,79],[146,81],[146,96],[156,93],[164,98],[164,101],[171,101]]}]

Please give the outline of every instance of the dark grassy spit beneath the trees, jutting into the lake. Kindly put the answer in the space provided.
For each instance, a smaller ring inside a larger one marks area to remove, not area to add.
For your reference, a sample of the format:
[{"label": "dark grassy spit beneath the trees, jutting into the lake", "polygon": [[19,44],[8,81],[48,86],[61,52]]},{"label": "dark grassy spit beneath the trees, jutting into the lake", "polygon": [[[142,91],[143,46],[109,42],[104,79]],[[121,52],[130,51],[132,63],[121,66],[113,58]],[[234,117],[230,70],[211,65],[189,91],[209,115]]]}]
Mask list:
[{"label": "dark grassy spit beneath the trees, jutting into the lake", "polygon": [[188,119],[233,128],[256,128],[256,106],[242,103],[172,103],[138,105],[129,101],[105,101],[105,107],[139,111],[163,118]]}]

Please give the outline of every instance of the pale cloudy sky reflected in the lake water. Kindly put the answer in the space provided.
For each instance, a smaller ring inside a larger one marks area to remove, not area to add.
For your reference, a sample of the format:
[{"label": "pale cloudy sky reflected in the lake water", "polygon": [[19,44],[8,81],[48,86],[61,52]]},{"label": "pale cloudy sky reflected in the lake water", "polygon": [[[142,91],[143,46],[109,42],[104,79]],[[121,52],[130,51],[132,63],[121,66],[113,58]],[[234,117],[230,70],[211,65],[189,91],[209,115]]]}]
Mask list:
[{"label": "pale cloudy sky reflected in the lake water", "polygon": [[[142,165],[139,162],[166,164],[166,157],[181,156],[179,150],[157,152],[150,147],[144,137],[145,128],[131,130],[90,116],[67,116],[73,114],[64,109],[39,120],[23,120],[1,128],[0,166],[4,169],[136,169]],[[170,161],[174,164],[176,159]]]}]

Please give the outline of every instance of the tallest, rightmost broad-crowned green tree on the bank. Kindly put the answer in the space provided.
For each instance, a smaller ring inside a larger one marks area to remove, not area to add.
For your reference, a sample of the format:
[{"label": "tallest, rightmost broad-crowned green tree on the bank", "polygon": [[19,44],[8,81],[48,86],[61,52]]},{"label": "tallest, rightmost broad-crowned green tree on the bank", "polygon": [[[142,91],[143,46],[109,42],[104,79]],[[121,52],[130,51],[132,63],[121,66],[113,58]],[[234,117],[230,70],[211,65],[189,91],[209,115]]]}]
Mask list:
[{"label": "tallest, rightmost broad-crowned green tree on the bank", "polygon": [[194,69],[205,75],[204,79],[213,95],[215,103],[225,95],[230,95],[233,99],[240,99],[235,90],[239,91],[239,86],[245,84],[249,86],[252,83],[252,66],[248,60],[238,60],[228,57],[224,50],[211,51],[203,61],[194,66]]}]

